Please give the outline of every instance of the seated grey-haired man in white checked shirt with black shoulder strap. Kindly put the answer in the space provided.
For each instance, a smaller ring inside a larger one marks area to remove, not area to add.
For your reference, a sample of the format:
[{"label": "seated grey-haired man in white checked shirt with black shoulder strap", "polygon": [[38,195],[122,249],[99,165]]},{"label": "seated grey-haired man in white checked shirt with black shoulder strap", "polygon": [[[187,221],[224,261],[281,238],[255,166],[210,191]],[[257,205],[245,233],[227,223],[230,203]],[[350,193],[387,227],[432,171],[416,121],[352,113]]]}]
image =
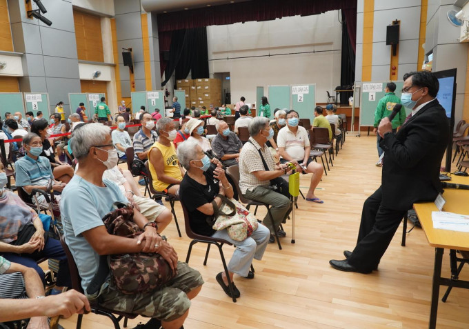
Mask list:
[{"label": "seated grey-haired man in white checked shirt with black shoulder strap", "polygon": [[[280,229],[280,223],[288,217],[292,206],[290,199],[275,190],[270,189],[270,180],[285,175],[288,171],[286,164],[277,166],[266,142],[272,138],[273,130],[266,117],[255,117],[249,124],[248,143],[244,144],[239,156],[239,188],[241,193],[250,200],[268,203],[274,226],[267,213],[262,223],[270,230],[269,243],[275,242],[274,233],[279,237],[286,237],[286,232]],[[262,157],[261,157],[262,156]],[[269,170],[263,165],[266,161]]]}]

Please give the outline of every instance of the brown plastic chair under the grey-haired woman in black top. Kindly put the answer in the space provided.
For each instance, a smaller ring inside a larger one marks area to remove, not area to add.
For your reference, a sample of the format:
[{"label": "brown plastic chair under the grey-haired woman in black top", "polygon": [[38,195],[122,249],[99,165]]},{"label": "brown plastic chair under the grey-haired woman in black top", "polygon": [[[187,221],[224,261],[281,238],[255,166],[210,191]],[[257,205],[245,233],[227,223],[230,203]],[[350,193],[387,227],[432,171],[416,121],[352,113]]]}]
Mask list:
[{"label": "brown plastic chair under the grey-haired woman in black top", "polygon": [[[194,231],[192,231],[192,228],[190,228],[190,218],[189,218],[189,213],[187,208],[184,206],[184,203],[181,202],[181,208],[184,213],[184,223],[186,226],[186,235],[192,241],[189,243],[189,249],[188,249],[188,255],[186,256],[186,263],[189,264],[189,259],[190,259],[190,253],[192,252],[192,246],[194,246],[195,243],[201,242],[201,243],[207,243],[207,251],[206,251],[206,257],[203,259],[203,265],[207,265],[207,259],[208,259],[208,252],[210,251],[210,246],[214,244],[217,246],[219,252],[220,252],[220,258],[221,258],[221,263],[223,263],[223,270],[225,270],[226,274],[226,279],[228,280],[228,287],[230,288],[231,296],[233,303],[236,303],[236,297],[234,297],[234,292],[230,280],[230,273],[228,272],[228,266],[226,266],[226,260],[225,260],[225,255],[223,255],[223,244],[226,244],[228,246],[232,246],[232,244],[226,240],[223,239],[215,239],[212,237],[207,237],[206,235],[198,235]],[[251,272],[254,272],[254,268],[252,268],[251,265]]]}]

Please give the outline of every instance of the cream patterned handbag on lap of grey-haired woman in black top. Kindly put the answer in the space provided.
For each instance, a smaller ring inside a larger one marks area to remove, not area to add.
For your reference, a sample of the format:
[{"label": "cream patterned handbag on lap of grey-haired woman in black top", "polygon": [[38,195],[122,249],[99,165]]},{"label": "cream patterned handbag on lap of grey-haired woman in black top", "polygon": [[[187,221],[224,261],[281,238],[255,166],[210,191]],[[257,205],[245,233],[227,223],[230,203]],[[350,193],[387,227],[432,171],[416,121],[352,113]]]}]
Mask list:
[{"label": "cream patterned handbag on lap of grey-haired woman in black top", "polygon": [[257,219],[238,201],[223,195],[217,197],[221,198],[222,203],[212,228],[217,231],[226,229],[228,236],[234,241],[246,240],[257,230]]}]

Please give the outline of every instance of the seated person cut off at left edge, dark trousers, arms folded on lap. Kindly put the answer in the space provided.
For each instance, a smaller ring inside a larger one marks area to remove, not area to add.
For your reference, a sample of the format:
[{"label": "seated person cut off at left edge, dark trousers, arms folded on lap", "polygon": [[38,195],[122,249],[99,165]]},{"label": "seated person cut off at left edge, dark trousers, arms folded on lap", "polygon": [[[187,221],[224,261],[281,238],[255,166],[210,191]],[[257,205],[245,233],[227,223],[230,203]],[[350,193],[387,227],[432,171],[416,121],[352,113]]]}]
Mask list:
[{"label": "seated person cut off at left edge, dark trousers, arms folded on lap", "polygon": [[6,174],[0,163],[0,254],[8,261],[36,270],[44,285],[44,271],[37,261],[57,259],[57,286],[52,292],[58,294],[63,287],[70,286],[68,261],[60,241],[49,237],[39,215],[5,186]]}]

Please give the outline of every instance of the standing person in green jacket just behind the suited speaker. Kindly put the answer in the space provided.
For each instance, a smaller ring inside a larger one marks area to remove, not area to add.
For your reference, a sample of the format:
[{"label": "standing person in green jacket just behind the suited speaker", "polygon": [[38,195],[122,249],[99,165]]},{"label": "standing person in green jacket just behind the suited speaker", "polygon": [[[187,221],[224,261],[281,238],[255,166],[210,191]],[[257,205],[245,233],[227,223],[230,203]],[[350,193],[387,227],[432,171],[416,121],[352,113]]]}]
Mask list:
[{"label": "standing person in green jacket just behind the suited speaker", "polygon": [[[396,104],[401,103],[401,99],[396,96],[394,93],[396,90],[396,83],[390,82],[386,85],[386,89],[384,90],[386,92],[386,95],[379,100],[378,106],[375,110],[375,124],[373,125],[375,128],[373,129],[373,132],[377,132],[379,123],[381,122],[381,119],[385,117],[389,117],[389,115],[392,113],[392,109]],[[401,124],[406,121],[406,109],[404,107],[401,108],[401,111],[399,112],[399,115],[396,115],[394,119],[392,119],[392,132],[396,133],[397,127],[401,126]],[[378,155],[381,158],[381,154],[383,154],[383,150],[379,147],[379,141],[381,141],[381,137],[379,137],[379,134],[377,134],[377,148],[378,148]],[[379,160],[376,163],[376,166],[382,166],[381,160]]]}]

